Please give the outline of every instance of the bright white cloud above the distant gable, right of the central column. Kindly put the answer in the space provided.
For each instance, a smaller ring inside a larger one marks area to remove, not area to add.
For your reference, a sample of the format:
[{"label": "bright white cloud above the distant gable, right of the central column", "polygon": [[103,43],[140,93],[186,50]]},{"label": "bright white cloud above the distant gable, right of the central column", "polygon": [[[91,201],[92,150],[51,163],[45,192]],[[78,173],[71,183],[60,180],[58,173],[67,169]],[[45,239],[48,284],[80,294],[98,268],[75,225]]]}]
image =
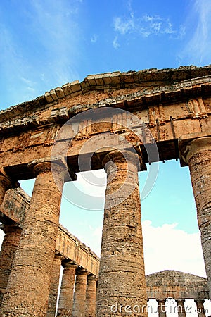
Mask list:
[{"label": "bright white cloud above the distant gable, right of the central column", "polygon": [[177,229],[177,223],[153,227],[143,221],[143,247],[146,274],[176,270],[205,276],[200,233]]}]

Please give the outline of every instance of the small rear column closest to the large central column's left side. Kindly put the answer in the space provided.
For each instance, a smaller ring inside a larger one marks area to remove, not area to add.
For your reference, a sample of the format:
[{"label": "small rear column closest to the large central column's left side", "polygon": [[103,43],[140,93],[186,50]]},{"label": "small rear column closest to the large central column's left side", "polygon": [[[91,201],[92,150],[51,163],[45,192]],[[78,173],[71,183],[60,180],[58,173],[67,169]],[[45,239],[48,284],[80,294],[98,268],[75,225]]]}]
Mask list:
[{"label": "small rear column closest to the large central column's left side", "polygon": [[96,282],[98,278],[94,275],[87,277],[86,313],[85,317],[96,316]]}]

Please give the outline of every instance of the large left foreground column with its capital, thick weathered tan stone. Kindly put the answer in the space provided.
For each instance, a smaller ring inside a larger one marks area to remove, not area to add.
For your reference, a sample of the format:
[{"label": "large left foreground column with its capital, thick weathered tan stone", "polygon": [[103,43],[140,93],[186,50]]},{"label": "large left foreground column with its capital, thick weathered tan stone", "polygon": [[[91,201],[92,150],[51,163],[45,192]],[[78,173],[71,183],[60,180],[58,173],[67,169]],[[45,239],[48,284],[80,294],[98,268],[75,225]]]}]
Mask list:
[{"label": "large left foreground column with its capital, thick weathered tan stone", "polygon": [[36,160],[37,175],[25,215],[0,316],[44,317],[48,309],[64,172],[60,163]]}]

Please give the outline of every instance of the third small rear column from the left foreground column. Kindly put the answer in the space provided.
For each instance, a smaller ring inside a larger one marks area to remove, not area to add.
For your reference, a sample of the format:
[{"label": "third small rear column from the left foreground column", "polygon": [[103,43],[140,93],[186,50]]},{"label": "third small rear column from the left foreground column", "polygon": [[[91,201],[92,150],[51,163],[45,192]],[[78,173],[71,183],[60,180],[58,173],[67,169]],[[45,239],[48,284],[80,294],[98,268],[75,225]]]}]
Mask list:
[{"label": "third small rear column from the left foreground column", "polygon": [[76,271],[75,292],[72,308],[72,317],[84,317],[86,305],[87,275],[86,270]]}]

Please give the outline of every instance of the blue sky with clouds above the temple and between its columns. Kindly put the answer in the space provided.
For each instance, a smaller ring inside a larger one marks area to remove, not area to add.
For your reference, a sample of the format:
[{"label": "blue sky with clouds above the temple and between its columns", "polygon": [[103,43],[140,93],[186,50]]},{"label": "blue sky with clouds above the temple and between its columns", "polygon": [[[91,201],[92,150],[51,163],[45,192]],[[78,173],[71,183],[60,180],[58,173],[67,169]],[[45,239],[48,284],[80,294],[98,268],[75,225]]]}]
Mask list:
[{"label": "blue sky with clouds above the temple and between its columns", "polygon": [[[88,74],[210,64],[210,17],[210,0],[1,1],[0,108]],[[146,172],[139,176],[142,187]],[[30,192],[32,182],[22,185]],[[81,176],[80,186],[86,187]],[[101,211],[63,199],[60,217],[97,253],[102,209],[103,199]],[[174,268],[205,275],[188,168],[180,168],[179,161],[160,163],[141,210],[146,272]],[[177,250],[177,244],[184,249]],[[158,248],[166,246],[166,255],[155,261]]]}]

